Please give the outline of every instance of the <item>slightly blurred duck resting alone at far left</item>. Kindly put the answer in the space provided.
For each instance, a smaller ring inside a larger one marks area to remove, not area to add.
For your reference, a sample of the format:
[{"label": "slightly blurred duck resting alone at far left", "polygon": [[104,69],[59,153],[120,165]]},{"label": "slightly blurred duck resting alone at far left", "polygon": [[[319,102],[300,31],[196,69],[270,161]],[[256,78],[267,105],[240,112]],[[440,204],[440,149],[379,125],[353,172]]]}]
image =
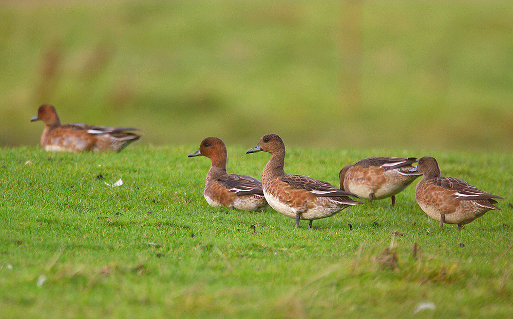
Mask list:
[{"label": "slightly blurred duck resting alone at far left", "polygon": [[41,147],[53,152],[121,151],[128,144],[139,141],[141,135],[131,127],[92,126],[81,123],[61,125],[52,105],[43,104],[30,122],[41,120],[45,124],[41,135]]}]

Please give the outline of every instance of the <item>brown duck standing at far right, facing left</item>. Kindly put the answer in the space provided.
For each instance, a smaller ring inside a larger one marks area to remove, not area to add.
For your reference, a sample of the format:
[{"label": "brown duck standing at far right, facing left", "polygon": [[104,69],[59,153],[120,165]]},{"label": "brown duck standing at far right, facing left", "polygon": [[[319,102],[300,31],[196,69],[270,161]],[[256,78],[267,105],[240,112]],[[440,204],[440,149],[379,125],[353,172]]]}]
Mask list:
[{"label": "brown duck standing at far right, facing left", "polygon": [[445,224],[457,224],[458,230],[490,210],[501,210],[495,206],[498,195],[486,193],[456,177],[442,176],[442,171],[434,157],[419,159],[411,172],[424,176],[415,187],[415,200],[431,218]]}]

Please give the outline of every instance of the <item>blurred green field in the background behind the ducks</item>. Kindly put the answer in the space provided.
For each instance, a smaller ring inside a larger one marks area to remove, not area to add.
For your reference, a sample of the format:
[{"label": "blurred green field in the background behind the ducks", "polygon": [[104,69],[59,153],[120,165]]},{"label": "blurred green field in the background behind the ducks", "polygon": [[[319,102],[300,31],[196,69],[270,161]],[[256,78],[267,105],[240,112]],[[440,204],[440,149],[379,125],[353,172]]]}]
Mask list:
[{"label": "blurred green field in the background behind the ducks", "polygon": [[0,146],[63,123],[140,143],[511,150],[509,1],[2,1]]}]

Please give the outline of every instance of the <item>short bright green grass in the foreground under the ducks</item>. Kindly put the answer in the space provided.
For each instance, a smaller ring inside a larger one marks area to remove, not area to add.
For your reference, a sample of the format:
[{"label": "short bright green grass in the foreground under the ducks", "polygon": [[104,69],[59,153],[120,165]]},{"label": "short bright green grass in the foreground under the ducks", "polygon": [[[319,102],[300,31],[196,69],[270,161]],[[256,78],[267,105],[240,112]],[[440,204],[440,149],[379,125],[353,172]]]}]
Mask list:
[{"label": "short bright green grass in the foreground under the ducks", "polygon": [[[244,154],[256,142],[229,146],[230,172],[260,176],[269,154]],[[341,167],[363,157],[431,155],[444,175],[505,198],[502,211],[462,231],[440,230],[416,205],[413,185],[392,210],[389,200],[366,203],[314,221],[313,230],[304,221],[296,230],[292,218],[272,209],[208,206],[202,189],[210,161],[186,157],[197,147],[136,145],[103,154],[2,148],[3,317],[502,318],[513,312],[510,154],[289,147],[287,172],[334,185]],[[119,178],[120,187],[104,183]],[[414,314],[423,302],[436,308]]]}]

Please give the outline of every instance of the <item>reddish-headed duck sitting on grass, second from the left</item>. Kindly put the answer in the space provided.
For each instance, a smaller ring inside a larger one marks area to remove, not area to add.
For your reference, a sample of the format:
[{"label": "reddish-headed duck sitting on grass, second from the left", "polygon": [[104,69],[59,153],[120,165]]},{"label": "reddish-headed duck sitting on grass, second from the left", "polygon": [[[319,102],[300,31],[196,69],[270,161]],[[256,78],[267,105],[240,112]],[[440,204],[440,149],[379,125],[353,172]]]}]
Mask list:
[{"label": "reddish-headed duck sitting on grass, second from the left", "polygon": [[206,156],[212,166],[206,174],[203,196],[212,207],[224,206],[245,211],[261,211],[268,207],[263,195],[262,183],[255,177],[228,174],[227,151],[218,137],[207,137],[199,149],[188,157]]}]

